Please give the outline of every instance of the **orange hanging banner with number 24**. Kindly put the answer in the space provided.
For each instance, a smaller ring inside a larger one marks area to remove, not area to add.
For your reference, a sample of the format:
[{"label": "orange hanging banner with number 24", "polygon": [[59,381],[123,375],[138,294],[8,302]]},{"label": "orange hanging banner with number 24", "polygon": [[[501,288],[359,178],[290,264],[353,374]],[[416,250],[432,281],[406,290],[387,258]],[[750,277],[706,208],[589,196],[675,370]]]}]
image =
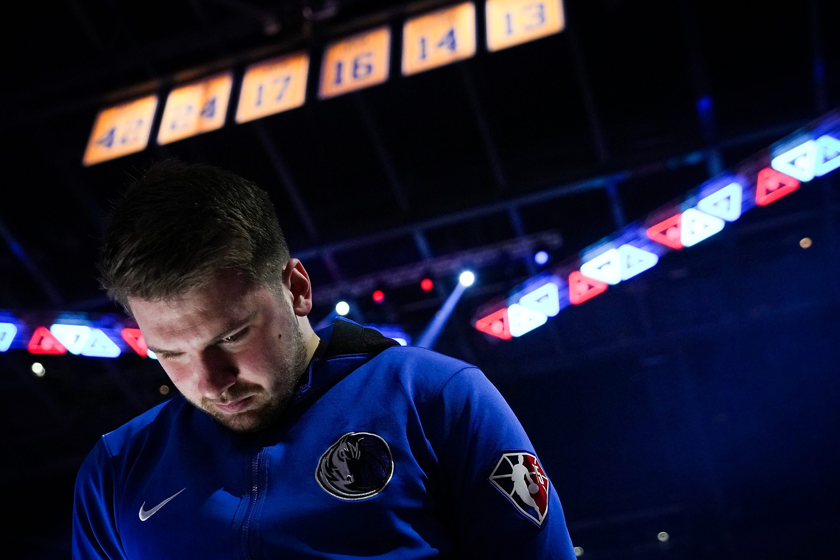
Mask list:
[{"label": "orange hanging banner with number 24", "polygon": [[233,75],[225,72],[172,90],[160,119],[158,144],[222,128],[233,83]]}]

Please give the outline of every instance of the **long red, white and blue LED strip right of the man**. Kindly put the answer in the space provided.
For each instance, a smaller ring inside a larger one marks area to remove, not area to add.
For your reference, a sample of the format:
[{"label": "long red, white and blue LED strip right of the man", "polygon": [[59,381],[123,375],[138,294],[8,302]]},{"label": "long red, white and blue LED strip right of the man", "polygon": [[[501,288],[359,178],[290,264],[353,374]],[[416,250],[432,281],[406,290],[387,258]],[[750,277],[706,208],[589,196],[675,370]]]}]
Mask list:
[{"label": "long red, white and blue LED strip right of the man", "polygon": [[840,115],[832,112],[812,123],[808,132],[792,134],[681,201],[584,249],[580,257],[518,285],[507,300],[482,306],[473,325],[502,340],[521,337],[564,307],[591,300],[610,285],[653,268],[664,254],[701,243],[743,212],[767,206],[838,167]]}]

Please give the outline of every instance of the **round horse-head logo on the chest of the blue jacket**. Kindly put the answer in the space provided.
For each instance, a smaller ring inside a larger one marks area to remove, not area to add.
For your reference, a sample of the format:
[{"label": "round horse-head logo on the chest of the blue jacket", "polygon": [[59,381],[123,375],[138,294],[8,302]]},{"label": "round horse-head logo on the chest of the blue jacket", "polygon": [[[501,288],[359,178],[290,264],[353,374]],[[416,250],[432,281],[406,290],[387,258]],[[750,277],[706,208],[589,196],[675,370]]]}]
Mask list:
[{"label": "round horse-head logo on the chest of the blue jacket", "polygon": [[375,433],[349,432],[318,461],[315,479],[342,500],[362,500],[379,494],[394,474],[387,442]]}]

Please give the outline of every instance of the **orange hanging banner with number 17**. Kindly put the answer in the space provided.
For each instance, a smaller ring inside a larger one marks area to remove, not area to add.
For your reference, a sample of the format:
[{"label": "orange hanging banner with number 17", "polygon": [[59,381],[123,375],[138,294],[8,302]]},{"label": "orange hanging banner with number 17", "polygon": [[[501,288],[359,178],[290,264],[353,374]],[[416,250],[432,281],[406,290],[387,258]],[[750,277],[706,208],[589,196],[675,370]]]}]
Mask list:
[{"label": "orange hanging banner with number 17", "polygon": [[281,56],[250,65],[242,78],[236,122],[300,107],[307,97],[309,55]]}]

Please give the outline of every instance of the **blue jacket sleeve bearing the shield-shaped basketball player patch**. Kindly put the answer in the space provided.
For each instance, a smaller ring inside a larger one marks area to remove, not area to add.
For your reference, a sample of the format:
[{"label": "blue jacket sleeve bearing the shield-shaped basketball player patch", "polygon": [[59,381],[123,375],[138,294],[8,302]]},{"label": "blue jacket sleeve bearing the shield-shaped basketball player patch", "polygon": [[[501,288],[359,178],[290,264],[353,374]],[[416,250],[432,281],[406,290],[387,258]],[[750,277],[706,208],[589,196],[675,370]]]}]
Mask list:
[{"label": "blue jacket sleeve bearing the shield-shaped basketball player patch", "polygon": [[554,485],[540,478],[528,436],[485,375],[460,370],[428,405],[423,430],[438,464],[437,501],[459,552],[574,560]]}]

